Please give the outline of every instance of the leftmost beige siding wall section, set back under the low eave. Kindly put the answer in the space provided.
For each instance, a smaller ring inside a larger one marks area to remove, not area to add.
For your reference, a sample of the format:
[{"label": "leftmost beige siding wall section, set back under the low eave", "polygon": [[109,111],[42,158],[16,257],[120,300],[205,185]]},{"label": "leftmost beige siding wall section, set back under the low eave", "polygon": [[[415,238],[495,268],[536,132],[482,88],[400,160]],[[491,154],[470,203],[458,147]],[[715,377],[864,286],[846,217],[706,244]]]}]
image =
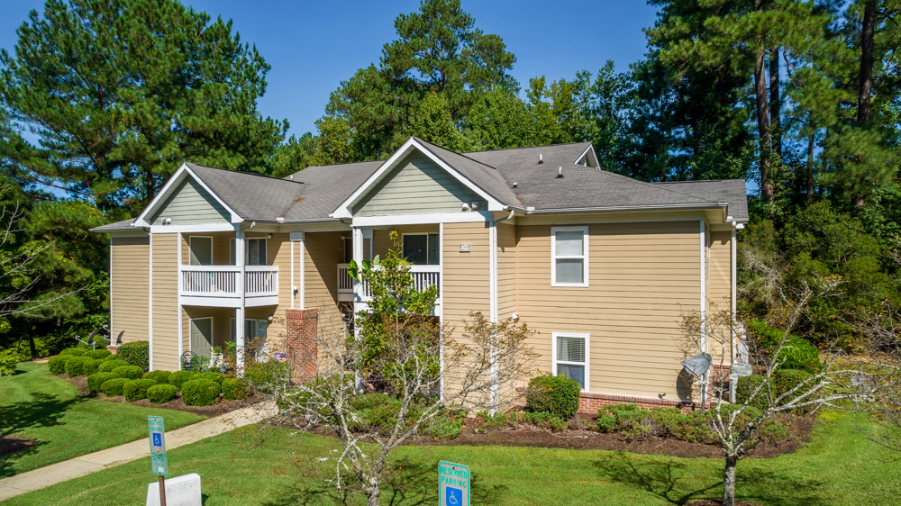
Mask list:
[{"label": "leftmost beige siding wall section, set back under the low eave", "polygon": [[125,331],[123,342],[148,339],[150,297],[150,238],[112,239],[110,246],[111,336]]}]

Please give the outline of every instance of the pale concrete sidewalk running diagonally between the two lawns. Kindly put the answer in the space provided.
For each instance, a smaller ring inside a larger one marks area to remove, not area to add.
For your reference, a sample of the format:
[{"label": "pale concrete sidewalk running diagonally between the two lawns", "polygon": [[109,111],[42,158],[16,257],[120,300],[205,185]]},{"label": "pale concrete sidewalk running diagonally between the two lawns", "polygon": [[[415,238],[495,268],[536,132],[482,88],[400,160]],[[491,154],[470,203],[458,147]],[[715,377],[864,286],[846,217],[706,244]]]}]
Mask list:
[{"label": "pale concrete sidewalk running diagonally between the two lawns", "polygon": [[[181,429],[167,431],[166,449],[182,447],[201,439],[218,436],[223,432],[257,423],[273,414],[275,414],[274,402],[271,403],[271,406],[257,405],[241,408]],[[0,501],[148,456],[150,456],[150,441],[143,438],[118,447],[78,456],[65,462],[47,465],[27,473],[16,474],[0,480]],[[150,461],[148,461],[149,465]]]}]

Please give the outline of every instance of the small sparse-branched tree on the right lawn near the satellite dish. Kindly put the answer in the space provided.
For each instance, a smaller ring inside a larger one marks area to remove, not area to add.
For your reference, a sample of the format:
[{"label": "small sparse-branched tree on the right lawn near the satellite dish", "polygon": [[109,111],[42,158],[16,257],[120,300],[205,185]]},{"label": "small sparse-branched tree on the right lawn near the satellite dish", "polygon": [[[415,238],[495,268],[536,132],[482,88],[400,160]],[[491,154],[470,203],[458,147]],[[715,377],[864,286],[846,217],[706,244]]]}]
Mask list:
[{"label": "small sparse-branched tree on the right lawn near the satellite dish", "polygon": [[[737,346],[741,327],[731,311],[709,312],[702,317],[697,312],[683,315],[682,336],[679,341],[686,357],[697,353],[709,353],[712,366],[701,381],[706,389],[711,407],[711,427],[714,441],[723,448],[725,472],[723,503],[735,502],[735,467],[763,438],[778,415],[789,412],[812,411],[823,405],[845,399],[864,401],[860,391],[848,388],[851,378],[869,373],[847,361],[837,361],[841,348],[830,347],[820,370],[815,374],[801,375],[797,381],[785,381],[780,375],[792,352],[791,330],[805,311],[806,304],[815,296],[823,296],[836,285],[828,282],[818,293],[806,288],[795,301],[786,300],[787,327],[776,342],[763,343],[755,336],[748,336],[749,366],[760,373],[754,382],[748,382],[747,392],[736,403],[725,401],[730,393],[730,372],[733,347]],[[851,365],[851,366],[849,366]],[[755,408],[756,406],[757,408]]]}]

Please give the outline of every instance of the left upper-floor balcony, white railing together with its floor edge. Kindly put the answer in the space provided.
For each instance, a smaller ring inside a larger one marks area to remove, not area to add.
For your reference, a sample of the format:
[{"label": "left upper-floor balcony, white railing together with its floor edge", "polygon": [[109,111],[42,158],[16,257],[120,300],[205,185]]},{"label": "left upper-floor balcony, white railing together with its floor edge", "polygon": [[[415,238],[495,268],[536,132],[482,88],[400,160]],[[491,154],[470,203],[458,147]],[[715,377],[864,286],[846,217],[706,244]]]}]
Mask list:
[{"label": "left upper-floor balcony, white railing together with its floor edge", "polygon": [[[178,301],[184,305],[237,308],[241,306],[238,281],[241,267],[178,267]],[[278,304],[278,267],[244,267],[244,306]]]}]

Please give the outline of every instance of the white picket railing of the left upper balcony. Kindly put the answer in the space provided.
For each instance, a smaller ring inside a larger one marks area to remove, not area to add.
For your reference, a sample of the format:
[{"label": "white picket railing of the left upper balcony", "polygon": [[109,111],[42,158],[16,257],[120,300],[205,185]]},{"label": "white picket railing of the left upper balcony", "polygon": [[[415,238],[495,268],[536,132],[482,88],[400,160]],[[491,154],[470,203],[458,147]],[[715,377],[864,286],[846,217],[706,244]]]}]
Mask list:
[{"label": "white picket railing of the left upper balcony", "polygon": [[[237,266],[180,266],[178,294],[184,297],[238,299]],[[244,297],[278,297],[277,266],[245,266]]]}]

